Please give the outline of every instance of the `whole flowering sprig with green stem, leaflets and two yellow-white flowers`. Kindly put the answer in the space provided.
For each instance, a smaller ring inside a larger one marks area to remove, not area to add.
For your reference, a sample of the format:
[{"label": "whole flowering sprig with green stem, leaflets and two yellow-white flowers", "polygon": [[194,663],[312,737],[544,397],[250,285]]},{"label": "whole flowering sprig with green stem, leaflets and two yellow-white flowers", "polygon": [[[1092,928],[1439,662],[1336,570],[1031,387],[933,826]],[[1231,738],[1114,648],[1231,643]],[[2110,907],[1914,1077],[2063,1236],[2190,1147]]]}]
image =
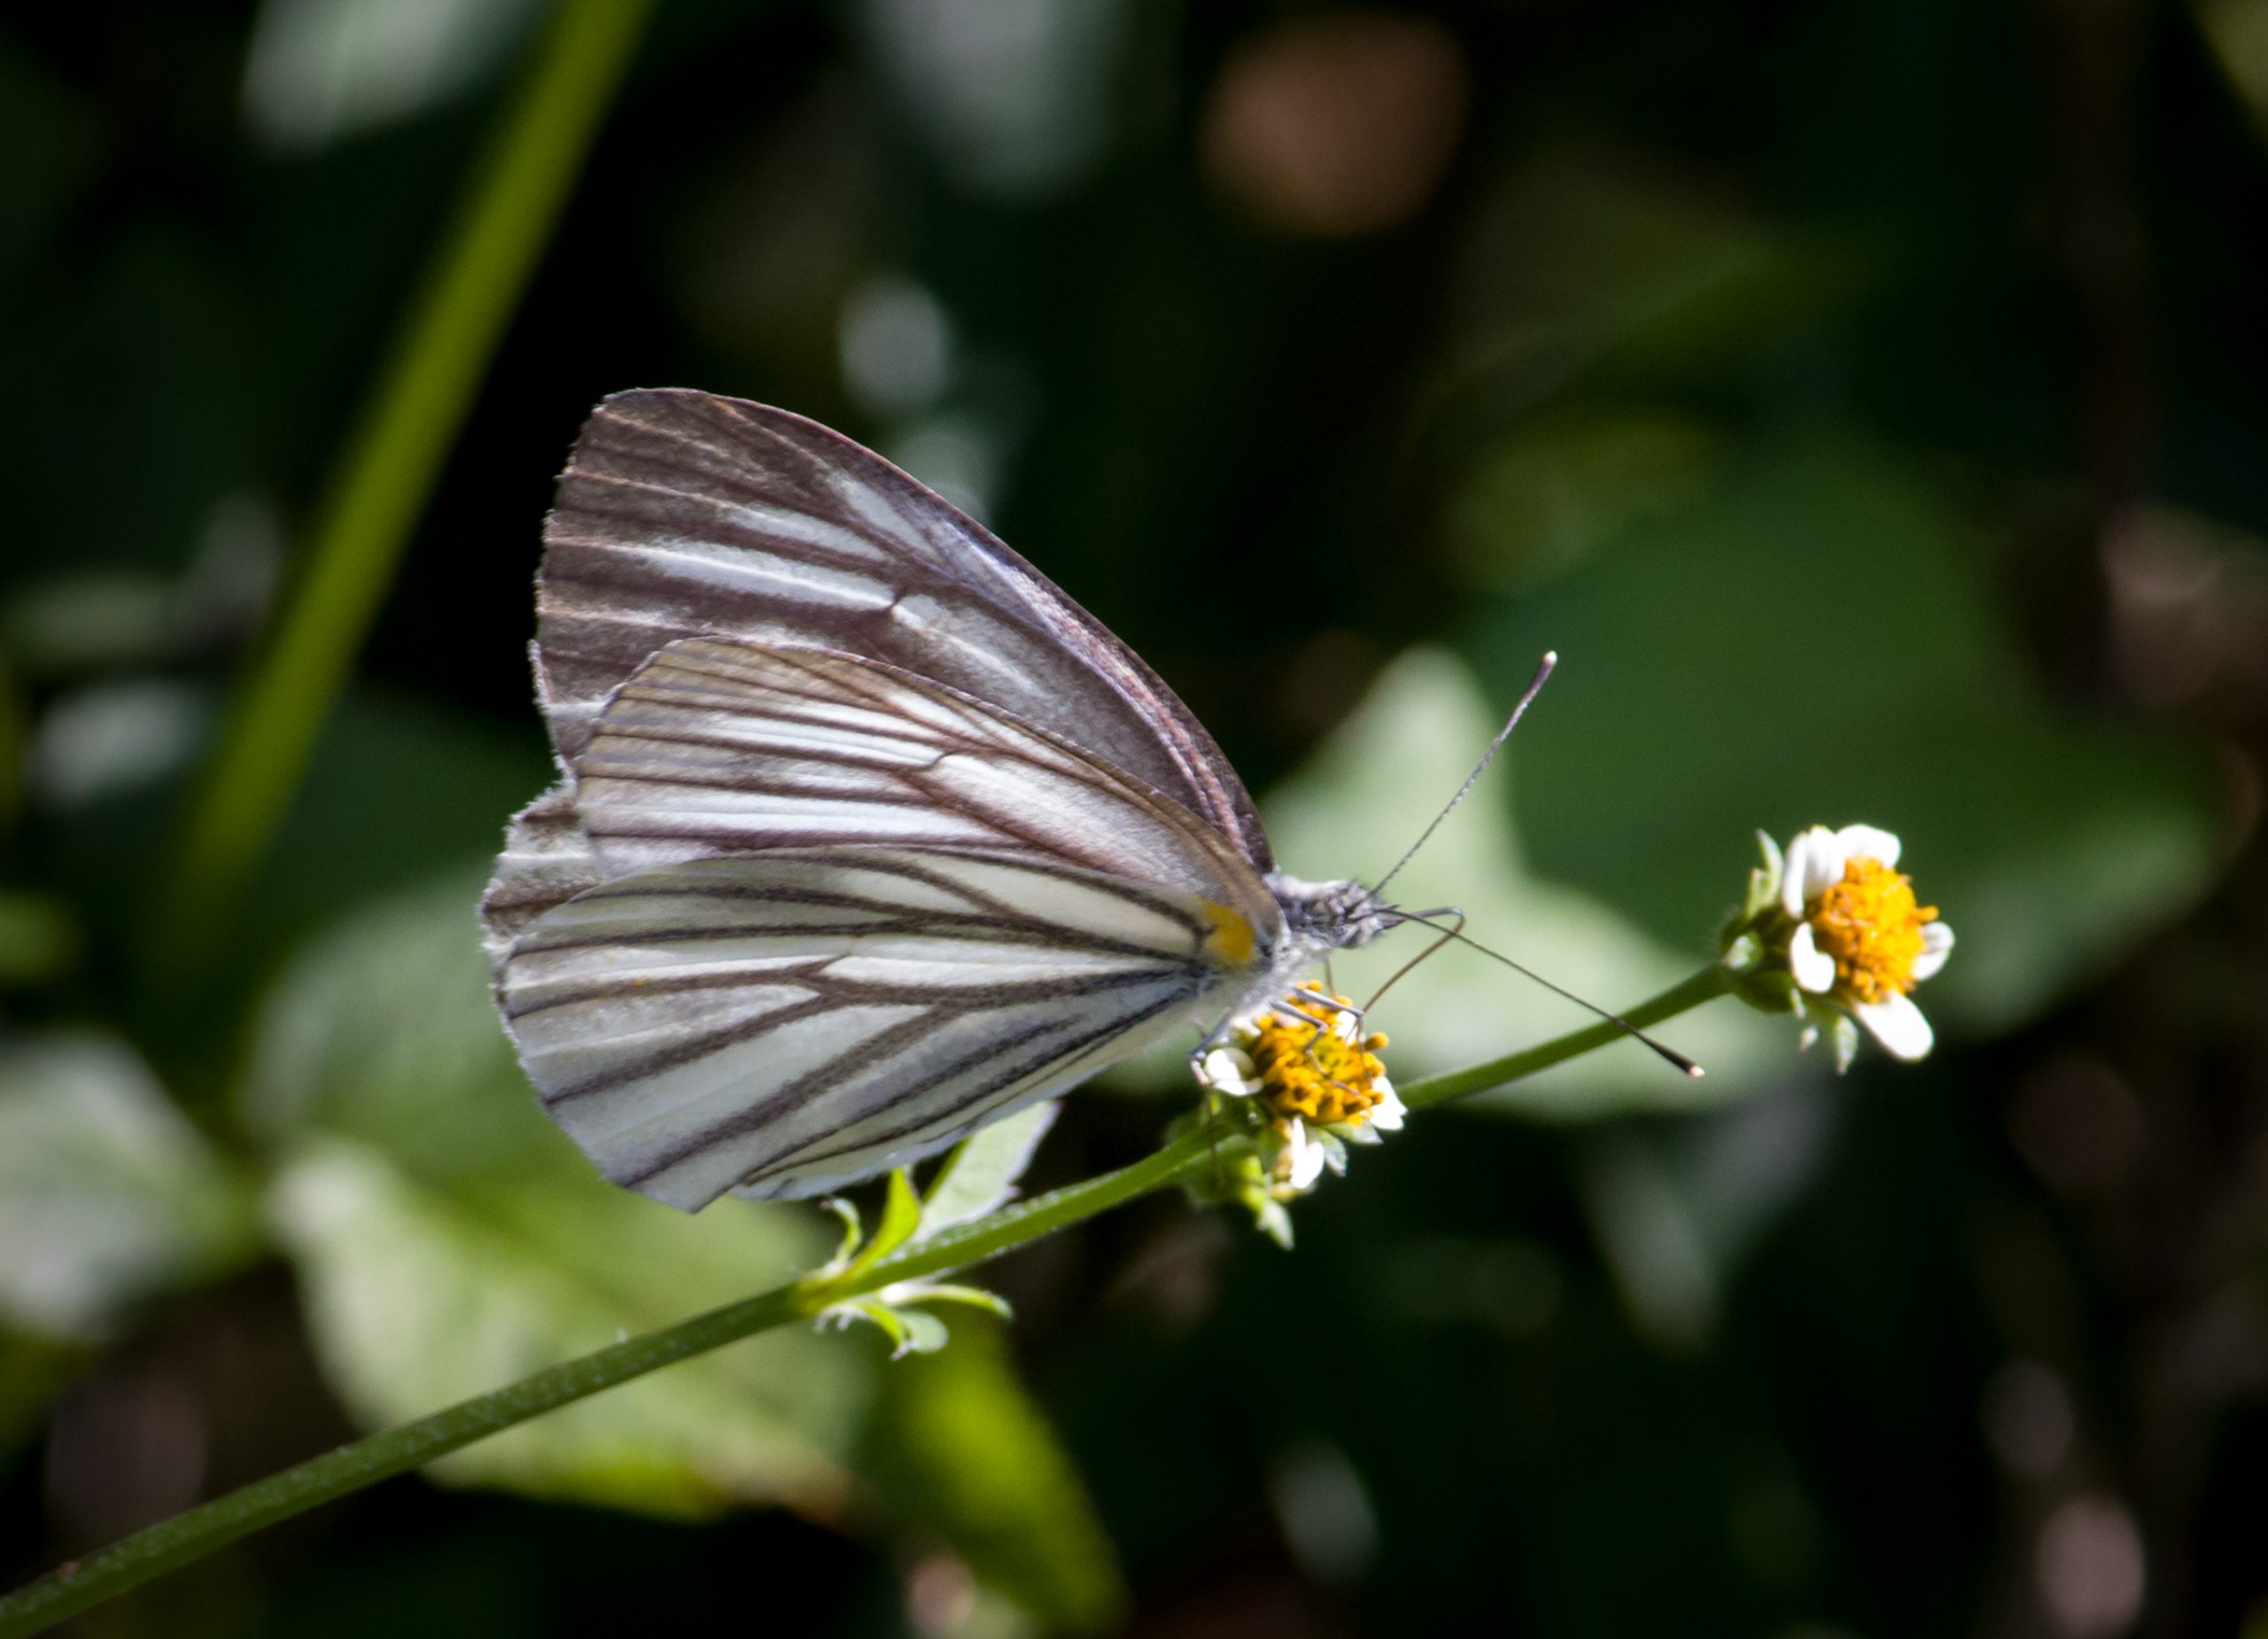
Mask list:
[{"label": "whole flowering sprig with green stem, leaflets and two yellow-white flowers", "polygon": [[[1821,1025],[1848,1031],[1848,1038],[1835,1038],[1837,1068],[1855,1050],[1853,1020],[1903,1059],[1926,1054],[1928,1025],[1916,1036],[1903,1016],[1912,1007],[1912,986],[1944,963],[1950,934],[1930,932],[1944,927],[1935,920],[1937,911],[1919,907],[1905,877],[1892,871],[1898,839],[1853,825],[1842,832],[1812,827],[1785,855],[1762,841],[1765,866],[1751,875],[1749,898],[1726,925],[1719,961],[1626,1009],[1622,1022],[1644,1029],[1719,995],[1740,995],[1767,1011],[1803,1013],[1808,1036]],[[1837,895],[1853,884],[1857,891]],[[1885,1004],[1885,997],[1894,1002]],[[1002,1199],[964,1222],[925,1222],[930,1215],[912,1181],[896,1172],[873,1235],[862,1235],[857,1215],[846,1211],[850,1233],[841,1254],[801,1281],[383,1428],[61,1564],[0,1598],[0,1639],[39,1632],[318,1503],[762,1331],[864,1319],[891,1335],[896,1353],[934,1349],[946,1333],[925,1313],[928,1306],[962,1301],[1005,1310],[989,1292],[939,1276],[1168,1186],[1200,1199],[1243,1201],[1263,1231],[1288,1242],[1286,1204],[1309,1192],[1325,1170],[1345,1170],[1349,1143],[1379,1143],[1381,1133],[1402,1127],[1408,1111],[1517,1081],[1624,1036],[1622,1025],[1599,1022],[1395,1088],[1379,1059],[1383,1036],[1359,1036],[1345,1018],[1311,997],[1290,997],[1266,1020],[1250,1020],[1236,1031],[1238,1045],[1209,1054],[1200,1075],[1207,1084],[1200,1118],[1184,1122],[1154,1154],[1116,1172],[1032,1199]],[[1919,1011],[1912,1018],[1919,1020]],[[971,1147],[978,1143],[982,1133],[968,1140]],[[1007,1179],[1000,1192],[1007,1192]]]}]

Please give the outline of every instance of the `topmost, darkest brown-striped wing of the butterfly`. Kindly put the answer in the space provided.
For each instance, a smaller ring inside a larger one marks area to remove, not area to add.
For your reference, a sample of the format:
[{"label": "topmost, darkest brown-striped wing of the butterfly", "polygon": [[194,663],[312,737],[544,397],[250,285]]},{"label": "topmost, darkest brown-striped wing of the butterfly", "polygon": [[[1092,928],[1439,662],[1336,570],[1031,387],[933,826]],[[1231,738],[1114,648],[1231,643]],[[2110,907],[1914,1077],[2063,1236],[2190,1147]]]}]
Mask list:
[{"label": "topmost, darkest brown-striped wing of the butterfly", "polygon": [[1252,798],[1188,707],[980,524],[798,415],[621,392],[585,424],[544,526],[535,666],[562,762],[678,637],[848,651],[989,700],[1272,868]]}]

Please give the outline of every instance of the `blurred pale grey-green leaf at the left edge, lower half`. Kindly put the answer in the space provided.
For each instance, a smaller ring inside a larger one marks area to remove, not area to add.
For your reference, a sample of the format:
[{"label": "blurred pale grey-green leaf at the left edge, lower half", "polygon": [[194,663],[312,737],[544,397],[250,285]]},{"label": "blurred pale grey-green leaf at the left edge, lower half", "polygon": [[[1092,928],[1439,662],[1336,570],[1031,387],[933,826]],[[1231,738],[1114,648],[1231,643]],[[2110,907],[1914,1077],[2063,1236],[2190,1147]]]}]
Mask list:
[{"label": "blurred pale grey-green leaf at the left edge, lower half", "polygon": [[254,1195],[109,1036],[0,1050],[0,1324],[91,1340],[259,1251]]}]

